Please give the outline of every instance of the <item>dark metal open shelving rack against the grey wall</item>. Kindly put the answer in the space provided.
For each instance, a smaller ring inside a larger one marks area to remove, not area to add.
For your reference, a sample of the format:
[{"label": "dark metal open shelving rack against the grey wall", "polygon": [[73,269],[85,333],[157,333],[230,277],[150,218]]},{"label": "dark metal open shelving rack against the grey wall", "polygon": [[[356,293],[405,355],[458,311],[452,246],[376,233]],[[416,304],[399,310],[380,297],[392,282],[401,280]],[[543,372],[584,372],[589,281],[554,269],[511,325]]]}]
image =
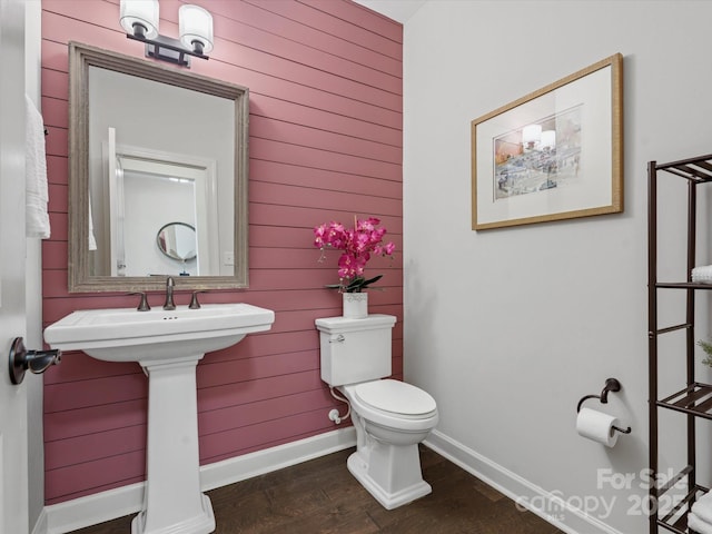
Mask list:
[{"label": "dark metal open shelving rack against the grey wall", "polygon": [[[657,280],[657,177],[659,174],[675,175],[681,184],[688,186],[688,275],[685,281],[663,283]],[[712,419],[712,385],[702,384],[694,377],[694,297],[696,290],[710,290],[712,284],[692,283],[691,273],[695,267],[695,235],[698,211],[698,186],[712,181],[712,155],[673,161],[670,164],[647,164],[649,199],[647,199],[647,336],[649,336],[649,411],[650,411],[650,469],[655,476],[659,473],[657,449],[657,411],[660,408],[680,412],[686,415],[688,459],[672,479],[662,487],[651,484],[650,488],[650,534],[657,534],[659,528],[678,534],[691,534],[688,530],[690,506],[702,492],[709,488],[698,484],[695,475],[695,418]],[[661,289],[679,289],[685,291],[685,320],[682,324],[660,327],[657,324],[657,294]],[[671,332],[685,333],[686,385],[679,392],[659,399],[657,390],[657,338]],[[657,503],[676,483],[686,478],[688,494],[664,516],[659,514]]]}]

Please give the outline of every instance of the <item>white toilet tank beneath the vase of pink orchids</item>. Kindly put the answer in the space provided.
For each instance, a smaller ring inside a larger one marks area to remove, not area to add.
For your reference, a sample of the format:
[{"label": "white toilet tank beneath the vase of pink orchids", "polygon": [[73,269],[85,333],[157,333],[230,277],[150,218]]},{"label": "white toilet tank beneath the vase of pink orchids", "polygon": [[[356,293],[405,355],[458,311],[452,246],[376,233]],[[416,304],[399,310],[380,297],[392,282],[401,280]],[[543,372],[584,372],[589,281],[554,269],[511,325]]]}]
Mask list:
[{"label": "white toilet tank beneath the vase of pink orchids", "polygon": [[396,318],[369,315],[363,319],[316,319],[320,335],[322,379],[330,386],[390,376],[390,337]]}]

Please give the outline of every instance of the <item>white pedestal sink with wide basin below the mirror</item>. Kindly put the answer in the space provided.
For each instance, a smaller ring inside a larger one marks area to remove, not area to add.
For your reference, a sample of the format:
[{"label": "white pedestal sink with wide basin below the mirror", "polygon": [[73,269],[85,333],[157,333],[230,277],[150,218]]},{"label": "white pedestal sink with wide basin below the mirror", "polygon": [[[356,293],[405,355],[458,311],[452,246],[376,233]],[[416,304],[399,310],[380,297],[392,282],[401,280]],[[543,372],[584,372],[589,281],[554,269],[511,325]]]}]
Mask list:
[{"label": "white pedestal sink with wide basin below the mirror", "polygon": [[200,491],[196,366],[205,353],[271,328],[274,312],[248,304],[73,312],[44,329],[61,350],[138,362],[148,375],[147,479],[132,534],[207,534],[212,506]]}]

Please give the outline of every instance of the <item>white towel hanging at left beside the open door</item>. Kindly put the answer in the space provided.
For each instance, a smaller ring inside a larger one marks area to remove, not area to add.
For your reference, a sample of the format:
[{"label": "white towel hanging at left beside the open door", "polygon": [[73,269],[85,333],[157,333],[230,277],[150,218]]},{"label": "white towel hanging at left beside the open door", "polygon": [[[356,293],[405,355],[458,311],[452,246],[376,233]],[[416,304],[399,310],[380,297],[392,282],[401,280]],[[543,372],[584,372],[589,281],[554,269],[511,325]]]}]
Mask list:
[{"label": "white towel hanging at left beside the open door", "polygon": [[44,122],[34,103],[24,96],[24,189],[26,235],[47,239],[50,235],[47,202],[47,158],[44,156]]}]

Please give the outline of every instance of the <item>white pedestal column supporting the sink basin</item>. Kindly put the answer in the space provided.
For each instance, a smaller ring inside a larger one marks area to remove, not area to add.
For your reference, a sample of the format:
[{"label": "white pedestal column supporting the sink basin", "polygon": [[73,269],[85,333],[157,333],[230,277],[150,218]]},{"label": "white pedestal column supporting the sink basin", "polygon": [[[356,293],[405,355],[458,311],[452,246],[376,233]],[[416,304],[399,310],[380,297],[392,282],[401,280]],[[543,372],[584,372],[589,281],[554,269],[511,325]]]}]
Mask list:
[{"label": "white pedestal column supporting the sink basin", "polygon": [[200,492],[196,365],[202,354],[140,362],[148,375],[144,510],[131,534],[207,534],[212,506]]}]

